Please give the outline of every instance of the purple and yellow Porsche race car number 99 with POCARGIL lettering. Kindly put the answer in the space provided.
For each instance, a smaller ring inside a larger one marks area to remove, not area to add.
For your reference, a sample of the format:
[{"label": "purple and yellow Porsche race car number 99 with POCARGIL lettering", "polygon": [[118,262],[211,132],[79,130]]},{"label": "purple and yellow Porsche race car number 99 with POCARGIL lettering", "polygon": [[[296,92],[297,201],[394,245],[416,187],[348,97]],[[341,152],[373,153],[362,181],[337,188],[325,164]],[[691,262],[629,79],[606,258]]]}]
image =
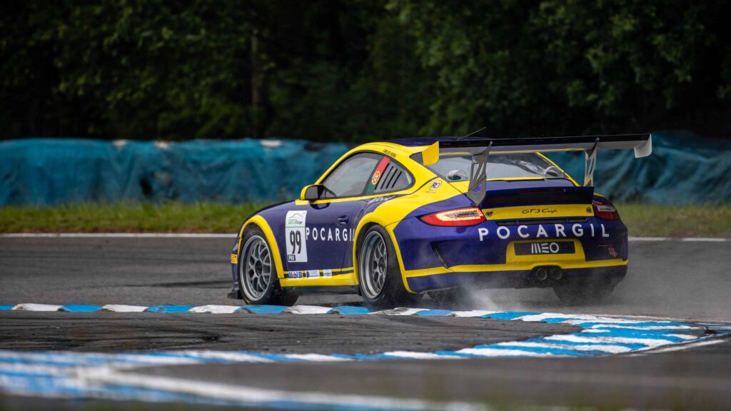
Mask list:
[{"label": "purple and yellow Porsche race car number 99 with POCARGIL lettering", "polygon": [[[651,154],[651,135],[419,137],[348,151],[300,198],[247,217],[231,249],[230,298],[291,305],[357,292],[371,309],[428,293],[553,287],[599,301],[627,271],[627,229],[594,192],[596,152]],[[541,152],[586,153],[583,184]]]}]

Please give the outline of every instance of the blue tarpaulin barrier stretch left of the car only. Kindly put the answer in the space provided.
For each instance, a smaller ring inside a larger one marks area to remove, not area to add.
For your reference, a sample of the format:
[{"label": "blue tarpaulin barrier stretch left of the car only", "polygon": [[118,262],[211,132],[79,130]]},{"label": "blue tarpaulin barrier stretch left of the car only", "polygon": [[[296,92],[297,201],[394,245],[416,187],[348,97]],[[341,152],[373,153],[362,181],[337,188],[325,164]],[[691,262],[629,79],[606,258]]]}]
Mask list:
[{"label": "blue tarpaulin barrier stretch left of the car only", "polygon": [[292,199],[349,146],[300,140],[0,142],[0,205]]}]

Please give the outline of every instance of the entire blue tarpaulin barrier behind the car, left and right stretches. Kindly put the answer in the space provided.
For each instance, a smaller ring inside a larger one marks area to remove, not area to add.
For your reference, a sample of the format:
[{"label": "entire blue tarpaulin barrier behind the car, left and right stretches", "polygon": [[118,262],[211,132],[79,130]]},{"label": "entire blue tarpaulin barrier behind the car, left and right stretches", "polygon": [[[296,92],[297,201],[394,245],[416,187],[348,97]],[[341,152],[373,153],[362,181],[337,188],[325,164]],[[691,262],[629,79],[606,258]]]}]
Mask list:
[{"label": "entire blue tarpaulin barrier behind the car, left and right stretches", "polygon": [[[613,200],[731,203],[731,140],[653,133],[651,157],[600,151],[596,191]],[[0,142],[0,206],[298,197],[351,146],[301,140]],[[583,178],[583,153],[549,156]]]}]

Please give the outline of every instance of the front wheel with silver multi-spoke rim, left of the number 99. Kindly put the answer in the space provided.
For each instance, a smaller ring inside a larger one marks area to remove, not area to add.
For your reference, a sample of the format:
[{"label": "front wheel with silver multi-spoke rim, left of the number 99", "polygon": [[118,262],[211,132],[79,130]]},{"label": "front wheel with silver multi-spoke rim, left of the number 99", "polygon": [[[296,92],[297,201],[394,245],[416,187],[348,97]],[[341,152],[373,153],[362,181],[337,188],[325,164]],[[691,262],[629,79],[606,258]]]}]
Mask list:
[{"label": "front wheel with silver multi-spoke rim, left of the number 99", "polygon": [[274,264],[271,247],[259,227],[250,226],[241,240],[238,285],[247,304],[292,306],[298,295],[284,291]]}]

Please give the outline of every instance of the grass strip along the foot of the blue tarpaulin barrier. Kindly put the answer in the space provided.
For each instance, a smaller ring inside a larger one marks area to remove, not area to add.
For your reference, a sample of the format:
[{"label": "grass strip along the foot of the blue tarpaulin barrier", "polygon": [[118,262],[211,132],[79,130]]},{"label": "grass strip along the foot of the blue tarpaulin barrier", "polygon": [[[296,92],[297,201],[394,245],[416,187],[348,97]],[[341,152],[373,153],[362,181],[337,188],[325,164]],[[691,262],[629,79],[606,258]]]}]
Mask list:
[{"label": "grass strip along the foot of the blue tarpaulin barrier", "polygon": [[[0,208],[0,233],[235,233],[256,204],[82,204]],[[731,237],[731,206],[618,204],[634,236]]]}]

